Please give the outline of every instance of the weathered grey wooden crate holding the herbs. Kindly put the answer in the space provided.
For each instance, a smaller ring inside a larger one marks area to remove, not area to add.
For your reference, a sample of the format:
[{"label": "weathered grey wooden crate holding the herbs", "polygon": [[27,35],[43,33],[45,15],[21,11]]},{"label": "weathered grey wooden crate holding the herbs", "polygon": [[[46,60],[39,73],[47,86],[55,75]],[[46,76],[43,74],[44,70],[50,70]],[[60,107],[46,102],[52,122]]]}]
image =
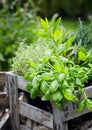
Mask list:
[{"label": "weathered grey wooden crate holding the herbs", "polygon": [[[18,96],[18,89],[25,92],[25,86],[27,82],[18,75],[12,73],[5,73],[7,88],[9,94],[9,104],[11,111],[11,125],[12,130],[68,130],[68,122],[74,120],[82,115],[86,115],[89,112],[85,109],[82,113],[77,113],[78,104],[68,102],[64,110],[59,110],[54,103],[52,103],[53,113],[46,112],[35,106],[23,101],[22,95]],[[90,98],[92,98],[92,86],[86,88]],[[40,124],[40,128],[27,127],[20,123],[20,117],[27,118],[31,123]],[[32,122],[33,121],[33,122]],[[90,128],[92,129],[92,127]],[[88,130],[85,129],[85,130]]]}]

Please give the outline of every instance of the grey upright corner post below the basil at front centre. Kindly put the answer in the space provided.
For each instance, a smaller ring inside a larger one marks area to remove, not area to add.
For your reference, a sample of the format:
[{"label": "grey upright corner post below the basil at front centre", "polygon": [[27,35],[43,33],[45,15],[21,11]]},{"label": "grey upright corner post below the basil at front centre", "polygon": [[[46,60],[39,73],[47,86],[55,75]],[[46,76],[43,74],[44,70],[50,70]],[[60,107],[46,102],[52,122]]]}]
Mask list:
[{"label": "grey upright corner post below the basil at front centre", "polygon": [[53,108],[53,128],[54,130],[68,130],[67,122],[63,122],[64,112],[57,108],[57,106],[52,103]]}]

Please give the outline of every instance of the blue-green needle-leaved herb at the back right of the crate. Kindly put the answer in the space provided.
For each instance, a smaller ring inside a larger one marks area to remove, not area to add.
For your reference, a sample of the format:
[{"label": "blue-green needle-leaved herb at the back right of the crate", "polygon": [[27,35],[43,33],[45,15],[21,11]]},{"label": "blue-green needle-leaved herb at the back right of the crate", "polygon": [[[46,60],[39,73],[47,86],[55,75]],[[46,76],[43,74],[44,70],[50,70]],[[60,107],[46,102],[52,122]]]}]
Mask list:
[{"label": "blue-green needle-leaved herb at the back right of the crate", "polygon": [[81,40],[81,46],[84,46],[87,49],[92,48],[92,22],[88,25],[84,24],[82,21],[79,22],[76,40],[77,43]]}]

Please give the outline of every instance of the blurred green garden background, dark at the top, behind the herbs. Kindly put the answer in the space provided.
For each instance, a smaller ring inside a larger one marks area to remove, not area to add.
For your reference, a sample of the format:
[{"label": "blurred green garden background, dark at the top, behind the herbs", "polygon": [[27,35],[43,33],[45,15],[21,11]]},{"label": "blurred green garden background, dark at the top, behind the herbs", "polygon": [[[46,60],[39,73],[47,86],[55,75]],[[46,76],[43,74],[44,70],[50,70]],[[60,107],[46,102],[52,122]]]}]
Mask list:
[{"label": "blurred green garden background, dark at the top, behind the herbs", "polygon": [[62,17],[66,30],[77,32],[78,19],[92,20],[92,0],[0,0],[0,71],[10,70],[23,39],[37,40],[39,17]]}]

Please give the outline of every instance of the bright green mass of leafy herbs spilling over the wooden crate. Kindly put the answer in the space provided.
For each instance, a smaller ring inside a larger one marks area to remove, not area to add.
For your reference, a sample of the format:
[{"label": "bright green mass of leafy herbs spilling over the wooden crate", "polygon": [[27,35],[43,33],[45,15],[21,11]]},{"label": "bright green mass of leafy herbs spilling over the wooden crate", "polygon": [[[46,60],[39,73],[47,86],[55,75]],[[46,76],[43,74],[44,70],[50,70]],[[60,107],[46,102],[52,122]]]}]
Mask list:
[{"label": "bright green mass of leafy herbs spilling over the wooden crate", "polygon": [[[24,51],[19,48],[13,64],[15,68],[17,66],[16,72],[21,70],[20,73],[30,82],[27,90],[31,98],[39,95],[42,100],[55,102],[59,108],[63,108],[67,101],[78,102],[79,112],[83,111],[84,107],[92,110],[92,101],[85,93],[85,83],[89,77],[92,79],[92,50],[87,52],[81,48],[76,64],[73,55],[78,49],[78,46],[73,44],[76,36],[66,35],[60,26],[60,18],[50,22],[47,19],[40,21],[42,28],[37,32],[40,37],[38,44],[35,44],[35,47],[23,47]],[[39,45],[44,48],[40,47],[38,53],[36,48]],[[26,65],[27,68],[23,72]],[[15,68],[13,67],[14,71]],[[80,101],[81,95],[84,95],[84,99]]]}]

